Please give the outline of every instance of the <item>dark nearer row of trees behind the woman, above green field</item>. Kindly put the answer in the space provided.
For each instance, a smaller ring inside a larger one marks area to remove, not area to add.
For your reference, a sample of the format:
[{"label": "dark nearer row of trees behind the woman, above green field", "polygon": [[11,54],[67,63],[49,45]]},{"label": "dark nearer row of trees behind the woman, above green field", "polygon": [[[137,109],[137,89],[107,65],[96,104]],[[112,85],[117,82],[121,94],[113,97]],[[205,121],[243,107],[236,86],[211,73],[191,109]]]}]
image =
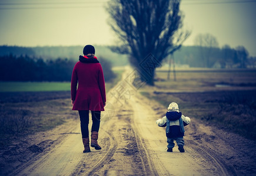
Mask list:
[{"label": "dark nearer row of trees behind the woman, above green field", "polygon": [[[111,82],[116,77],[112,72],[111,63],[98,58],[102,65],[105,82]],[[25,56],[0,56],[1,81],[36,81],[36,82],[70,82],[72,70],[77,61],[71,59],[51,59]]]}]

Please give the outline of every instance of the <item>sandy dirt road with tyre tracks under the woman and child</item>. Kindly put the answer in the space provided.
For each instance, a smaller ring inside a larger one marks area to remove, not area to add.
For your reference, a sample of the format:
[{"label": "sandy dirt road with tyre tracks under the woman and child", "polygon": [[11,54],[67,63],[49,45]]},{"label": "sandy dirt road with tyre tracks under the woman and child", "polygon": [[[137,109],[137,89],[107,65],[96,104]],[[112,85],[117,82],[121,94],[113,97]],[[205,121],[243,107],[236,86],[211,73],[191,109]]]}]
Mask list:
[{"label": "sandy dirt road with tyre tracks under the woman and child", "polygon": [[[91,153],[82,153],[77,119],[48,131],[45,137],[39,137],[41,140],[47,140],[55,136],[55,143],[49,150],[35,155],[8,175],[255,173],[255,156],[240,151],[241,140],[252,145],[255,145],[254,142],[217,130],[215,127],[205,126],[192,117],[191,124],[185,127],[185,153],[179,153],[177,146],[172,153],[168,153],[165,128],[155,124],[155,120],[165,114],[166,107],[141,96],[138,89],[128,89],[127,86],[129,84],[122,80],[108,94],[108,104],[106,111],[102,113],[99,131],[101,151],[91,148]],[[117,93],[119,90],[122,93]],[[235,145],[230,142],[231,139]],[[255,151],[253,153],[255,154]]]}]

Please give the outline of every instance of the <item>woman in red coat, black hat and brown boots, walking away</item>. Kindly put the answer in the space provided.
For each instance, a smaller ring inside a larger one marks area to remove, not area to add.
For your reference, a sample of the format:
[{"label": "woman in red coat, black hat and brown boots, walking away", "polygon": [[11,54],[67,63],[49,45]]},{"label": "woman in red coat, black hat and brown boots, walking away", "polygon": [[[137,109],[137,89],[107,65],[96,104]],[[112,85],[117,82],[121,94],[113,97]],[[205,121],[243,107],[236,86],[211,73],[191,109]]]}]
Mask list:
[{"label": "woman in red coat, black hat and brown boots, walking away", "polygon": [[[84,56],[74,66],[71,79],[72,110],[78,110],[84,153],[90,152],[89,147],[89,110],[92,114],[91,147],[101,150],[98,140],[101,111],[106,104],[105,82],[101,64],[95,54],[94,46],[84,47]],[[78,89],[77,89],[78,82]]]}]

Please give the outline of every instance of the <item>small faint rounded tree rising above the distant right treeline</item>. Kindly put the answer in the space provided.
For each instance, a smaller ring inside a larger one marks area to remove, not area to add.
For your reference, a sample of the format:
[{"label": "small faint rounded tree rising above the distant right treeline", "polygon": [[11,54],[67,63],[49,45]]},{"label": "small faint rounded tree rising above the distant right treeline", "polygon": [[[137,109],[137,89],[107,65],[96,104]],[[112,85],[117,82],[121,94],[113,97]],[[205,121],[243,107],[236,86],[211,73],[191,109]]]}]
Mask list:
[{"label": "small faint rounded tree rising above the distant right treeline", "polygon": [[199,46],[204,67],[210,67],[209,61],[212,55],[212,49],[218,47],[218,42],[215,36],[210,33],[200,33],[195,36],[194,44]]}]

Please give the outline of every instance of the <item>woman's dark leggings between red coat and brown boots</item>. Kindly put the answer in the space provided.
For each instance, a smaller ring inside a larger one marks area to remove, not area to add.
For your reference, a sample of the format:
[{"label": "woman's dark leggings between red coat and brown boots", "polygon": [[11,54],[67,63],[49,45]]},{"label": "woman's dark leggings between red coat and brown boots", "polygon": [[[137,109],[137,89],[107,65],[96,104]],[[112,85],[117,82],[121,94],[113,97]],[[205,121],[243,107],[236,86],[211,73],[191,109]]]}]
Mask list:
[{"label": "woman's dark leggings between red coat and brown boots", "polygon": [[[79,110],[79,117],[81,123],[82,138],[89,137],[89,110]],[[101,111],[91,111],[92,113],[92,130],[99,132],[99,124],[101,123]]]}]

